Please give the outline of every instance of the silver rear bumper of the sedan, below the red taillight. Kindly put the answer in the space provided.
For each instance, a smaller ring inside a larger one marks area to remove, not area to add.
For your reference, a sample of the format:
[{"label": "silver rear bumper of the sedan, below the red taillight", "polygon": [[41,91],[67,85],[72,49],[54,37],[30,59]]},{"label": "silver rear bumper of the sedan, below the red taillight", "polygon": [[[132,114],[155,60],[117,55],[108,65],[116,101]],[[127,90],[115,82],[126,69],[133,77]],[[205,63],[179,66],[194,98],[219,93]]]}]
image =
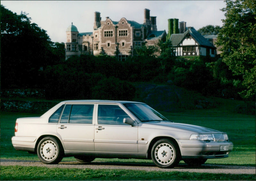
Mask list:
[{"label": "silver rear bumper of the sedan, below the red taillight", "polygon": [[36,137],[28,137],[28,136],[13,136],[12,137],[12,146],[16,150],[23,151],[35,151],[36,146]]}]

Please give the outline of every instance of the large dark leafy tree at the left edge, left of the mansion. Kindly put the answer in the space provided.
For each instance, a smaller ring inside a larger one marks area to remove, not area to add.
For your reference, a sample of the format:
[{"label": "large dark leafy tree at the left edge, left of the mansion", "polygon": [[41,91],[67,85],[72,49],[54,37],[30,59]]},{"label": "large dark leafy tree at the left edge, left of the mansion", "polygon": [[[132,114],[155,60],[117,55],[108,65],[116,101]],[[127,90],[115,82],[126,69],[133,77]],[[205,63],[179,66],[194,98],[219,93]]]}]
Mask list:
[{"label": "large dark leafy tree at the left edge, left of the mansion", "polygon": [[27,15],[17,15],[1,5],[2,88],[42,84],[40,69],[54,59],[53,42]]}]

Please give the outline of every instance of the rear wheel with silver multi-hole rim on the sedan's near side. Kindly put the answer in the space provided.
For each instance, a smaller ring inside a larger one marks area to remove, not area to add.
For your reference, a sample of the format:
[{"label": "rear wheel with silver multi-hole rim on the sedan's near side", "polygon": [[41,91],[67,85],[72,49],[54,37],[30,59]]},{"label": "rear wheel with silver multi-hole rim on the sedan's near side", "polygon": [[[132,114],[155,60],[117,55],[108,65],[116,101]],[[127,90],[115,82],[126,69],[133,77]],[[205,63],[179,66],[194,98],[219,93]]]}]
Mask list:
[{"label": "rear wheel with silver multi-hole rim on the sedan's near side", "polygon": [[45,137],[38,143],[37,156],[45,164],[57,164],[63,158],[63,148],[57,139]]}]

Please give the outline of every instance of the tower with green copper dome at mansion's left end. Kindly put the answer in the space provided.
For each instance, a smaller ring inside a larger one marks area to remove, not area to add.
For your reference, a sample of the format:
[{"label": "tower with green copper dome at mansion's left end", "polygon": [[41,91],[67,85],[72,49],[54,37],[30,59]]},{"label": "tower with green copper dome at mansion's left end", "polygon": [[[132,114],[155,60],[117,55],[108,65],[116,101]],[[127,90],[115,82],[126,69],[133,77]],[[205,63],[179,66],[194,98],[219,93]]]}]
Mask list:
[{"label": "tower with green copper dome at mansion's left end", "polygon": [[73,23],[68,26],[66,35],[67,35],[67,42],[65,45],[66,49],[66,60],[71,57],[72,55],[78,55],[78,30]]}]

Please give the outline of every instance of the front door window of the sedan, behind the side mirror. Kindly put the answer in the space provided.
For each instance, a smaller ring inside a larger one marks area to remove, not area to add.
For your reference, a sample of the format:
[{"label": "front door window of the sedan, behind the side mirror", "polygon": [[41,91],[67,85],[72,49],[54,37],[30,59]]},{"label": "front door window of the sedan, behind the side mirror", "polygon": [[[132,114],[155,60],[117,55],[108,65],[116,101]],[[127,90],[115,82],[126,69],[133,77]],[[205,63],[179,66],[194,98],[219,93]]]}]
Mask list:
[{"label": "front door window of the sedan, behind the side mirror", "polygon": [[99,105],[98,124],[127,125],[123,123],[124,118],[129,118],[118,105]]}]

